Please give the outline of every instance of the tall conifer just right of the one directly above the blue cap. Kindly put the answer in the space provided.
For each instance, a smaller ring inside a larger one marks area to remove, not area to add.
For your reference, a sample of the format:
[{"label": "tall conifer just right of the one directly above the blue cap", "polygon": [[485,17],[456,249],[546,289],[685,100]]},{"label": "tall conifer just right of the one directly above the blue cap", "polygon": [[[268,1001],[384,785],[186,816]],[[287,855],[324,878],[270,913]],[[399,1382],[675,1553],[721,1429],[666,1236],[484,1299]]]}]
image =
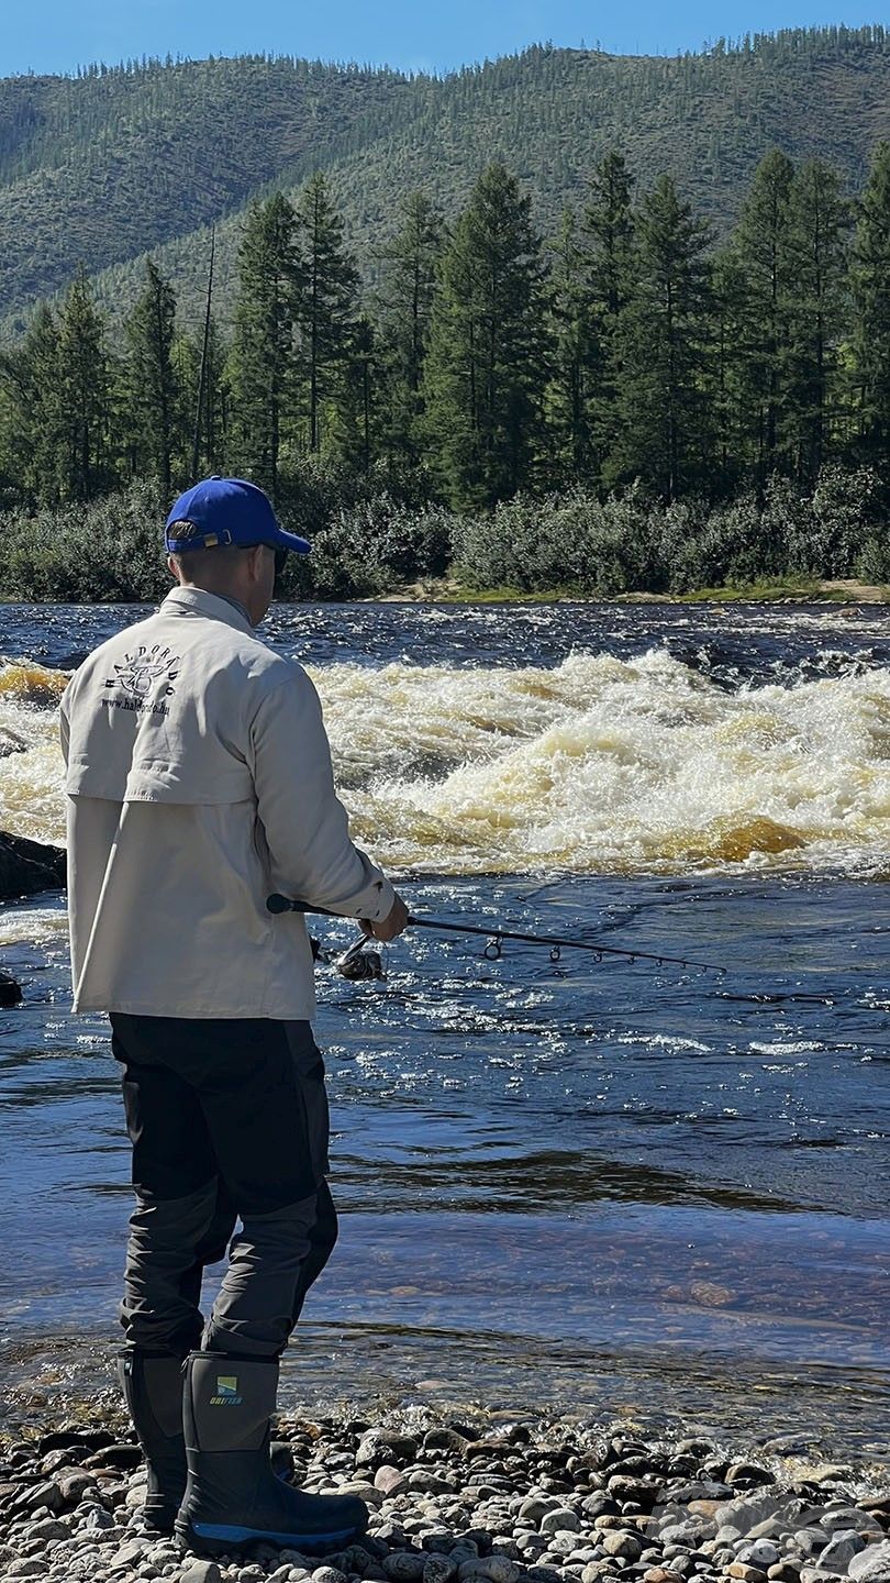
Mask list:
[{"label": "tall conifer just right of the one directly above the blue cap", "polygon": [[306,182],[296,222],[304,272],[298,299],[298,374],[309,450],[318,451],[325,404],[336,400],[355,337],[358,271],[345,249],[344,222],[321,173]]}]

